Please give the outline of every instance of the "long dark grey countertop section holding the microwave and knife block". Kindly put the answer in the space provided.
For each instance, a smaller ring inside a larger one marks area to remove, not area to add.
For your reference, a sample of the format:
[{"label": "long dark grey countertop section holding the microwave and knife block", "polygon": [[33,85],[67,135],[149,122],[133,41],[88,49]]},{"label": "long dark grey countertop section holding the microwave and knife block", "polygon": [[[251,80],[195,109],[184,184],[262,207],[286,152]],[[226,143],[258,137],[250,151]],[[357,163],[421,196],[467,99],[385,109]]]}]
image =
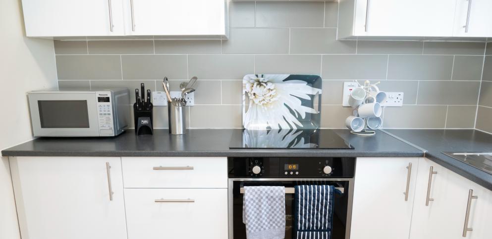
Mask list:
[{"label": "long dark grey countertop section holding the microwave and knife block", "polygon": [[[327,130],[327,129],[321,129]],[[229,149],[231,135],[241,129],[190,129],[184,135],[169,135],[157,129],[152,136],[135,136],[133,129],[111,138],[38,138],[3,150],[3,156],[79,157],[422,157],[414,148],[382,131],[375,136],[357,136],[349,130],[336,134],[355,149]]]}]

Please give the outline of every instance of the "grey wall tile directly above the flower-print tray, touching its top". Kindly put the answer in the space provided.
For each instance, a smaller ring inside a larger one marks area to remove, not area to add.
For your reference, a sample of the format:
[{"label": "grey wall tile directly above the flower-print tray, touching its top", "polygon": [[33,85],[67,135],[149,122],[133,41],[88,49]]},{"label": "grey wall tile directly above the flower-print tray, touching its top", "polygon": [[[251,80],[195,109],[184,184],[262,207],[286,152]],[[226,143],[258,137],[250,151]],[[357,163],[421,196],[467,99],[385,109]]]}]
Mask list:
[{"label": "grey wall tile directly above the flower-print tray, touching its top", "polygon": [[321,74],[321,55],[256,55],[256,74]]}]

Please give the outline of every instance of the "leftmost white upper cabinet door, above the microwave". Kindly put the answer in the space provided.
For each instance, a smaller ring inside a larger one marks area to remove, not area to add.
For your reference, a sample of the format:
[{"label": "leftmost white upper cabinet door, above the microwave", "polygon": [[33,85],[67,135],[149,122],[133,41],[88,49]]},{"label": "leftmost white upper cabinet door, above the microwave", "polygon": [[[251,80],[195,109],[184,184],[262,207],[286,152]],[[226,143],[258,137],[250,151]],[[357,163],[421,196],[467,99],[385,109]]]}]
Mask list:
[{"label": "leftmost white upper cabinet door, above the microwave", "polygon": [[122,0],[22,0],[22,9],[28,37],[124,35]]}]

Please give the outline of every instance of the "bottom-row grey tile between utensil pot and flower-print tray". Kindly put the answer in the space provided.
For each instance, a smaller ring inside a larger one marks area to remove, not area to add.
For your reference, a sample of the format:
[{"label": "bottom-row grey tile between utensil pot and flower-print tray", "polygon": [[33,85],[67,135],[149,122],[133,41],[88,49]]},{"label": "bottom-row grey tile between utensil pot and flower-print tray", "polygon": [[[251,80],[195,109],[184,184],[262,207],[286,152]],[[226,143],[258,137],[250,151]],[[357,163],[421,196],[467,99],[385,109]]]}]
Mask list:
[{"label": "bottom-row grey tile between utensil pot and flower-print tray", "polygon": [[192,128],[242,128],[239,105],[199,105],[190,109]]}]

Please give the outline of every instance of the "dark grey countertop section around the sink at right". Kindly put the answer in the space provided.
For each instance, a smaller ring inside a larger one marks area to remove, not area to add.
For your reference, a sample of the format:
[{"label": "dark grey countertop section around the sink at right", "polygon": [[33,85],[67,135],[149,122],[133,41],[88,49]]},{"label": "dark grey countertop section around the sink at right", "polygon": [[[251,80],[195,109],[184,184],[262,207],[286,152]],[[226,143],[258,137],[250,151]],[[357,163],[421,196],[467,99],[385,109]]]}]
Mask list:
[{"label": "dark grey countertop section around the sink at right", "polygon": [[473,129],[386,129],[425,149],[426,158],[492,190],[492,175],[441,152],[492,152],[492,134]]}]

